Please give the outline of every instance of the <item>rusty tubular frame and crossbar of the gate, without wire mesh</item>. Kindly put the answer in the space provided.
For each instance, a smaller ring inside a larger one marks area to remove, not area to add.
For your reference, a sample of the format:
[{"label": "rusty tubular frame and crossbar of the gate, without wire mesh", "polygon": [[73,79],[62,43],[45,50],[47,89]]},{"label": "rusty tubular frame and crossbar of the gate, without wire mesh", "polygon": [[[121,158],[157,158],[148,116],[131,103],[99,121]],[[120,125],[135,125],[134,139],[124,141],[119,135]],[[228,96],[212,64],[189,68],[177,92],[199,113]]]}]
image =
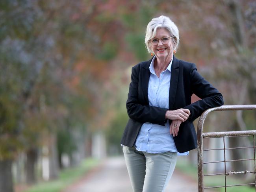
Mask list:
[{"label": "rusty tubular frame and crossbar of the gate, without wire mesh", "polygon": [[[198,168],[198,192],[204,192],[204,166],[203,166],[203,126],[206,116],[212,111],[243,111],[243,110],[254,110],[256,105],[223,105],[221,107],[214,107],[204,111],[197,124],[197,168]],[[219,135],[221,137],[225,136],[240,136],[240,135],[256,135],[256,130],[251,131],[227,131],[227,132],[214,132],[214,133],[204,133],[206,135]],[[225,151],[225,150],[224,150]],[[224,160],[225,161],[225,160]],[[254,161],[255,161],[255,144],[254,144]],[[226,171],[226,170],[225,170]],[[254,170],[255,171],[255,170]],[[226,174],[226,173],[225,173]],[[256,185],[256,182],[255,182]],[[225,185],[226,186],[226,185]]]}]

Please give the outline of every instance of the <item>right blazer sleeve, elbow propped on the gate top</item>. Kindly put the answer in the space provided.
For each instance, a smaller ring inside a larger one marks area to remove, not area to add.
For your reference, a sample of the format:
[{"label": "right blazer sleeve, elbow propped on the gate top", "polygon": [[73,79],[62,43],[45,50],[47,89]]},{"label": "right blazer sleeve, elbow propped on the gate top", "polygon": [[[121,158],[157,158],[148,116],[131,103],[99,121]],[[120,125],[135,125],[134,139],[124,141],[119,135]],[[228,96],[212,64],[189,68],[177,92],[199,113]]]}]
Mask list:
[{"label": "right blazer sleeve, elbow propped on the gate top", "polygon": [[191,65],[190,83],[192,94],[196,94],[202,100],[184,107],[184,109],[189,109],[191,113],[188,121],[193,122],[206,109],[223,105],[222,94],[197,72],[195,64]]}]

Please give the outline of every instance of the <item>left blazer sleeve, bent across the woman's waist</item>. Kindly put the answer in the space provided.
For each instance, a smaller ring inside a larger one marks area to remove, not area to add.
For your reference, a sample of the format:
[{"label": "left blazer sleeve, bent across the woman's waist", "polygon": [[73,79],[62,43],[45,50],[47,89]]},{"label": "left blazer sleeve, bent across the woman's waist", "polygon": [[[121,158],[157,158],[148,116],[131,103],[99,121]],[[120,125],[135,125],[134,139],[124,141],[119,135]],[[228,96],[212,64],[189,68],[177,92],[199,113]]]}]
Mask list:
[{"label": "left blazer sleeve, bent across the woman's waist", "polygon": [[139,66],[132,68],[131,83],[129,87],[126,109],[128,116],[138,122],[149,122],[153,124],[165,125],[165,113],[168,109],[142,105],[139,102]]}]

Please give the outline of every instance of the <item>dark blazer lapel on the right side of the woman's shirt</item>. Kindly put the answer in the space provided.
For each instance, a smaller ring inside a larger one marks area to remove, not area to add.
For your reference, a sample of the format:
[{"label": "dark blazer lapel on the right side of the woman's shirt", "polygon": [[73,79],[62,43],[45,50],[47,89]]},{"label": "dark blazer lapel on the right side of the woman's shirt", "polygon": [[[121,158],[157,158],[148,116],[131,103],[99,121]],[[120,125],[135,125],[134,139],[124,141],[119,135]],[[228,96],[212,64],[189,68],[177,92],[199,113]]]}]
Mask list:
[{"label": "dark blazer lapel on the right side of the woman's shirt", "polygon": [[173,110],[173,105],[175,101],[177,85],[179,79],[179,60],[173,55],[173,63],[171,66],[171,81],[169,90],[169,110]]}]

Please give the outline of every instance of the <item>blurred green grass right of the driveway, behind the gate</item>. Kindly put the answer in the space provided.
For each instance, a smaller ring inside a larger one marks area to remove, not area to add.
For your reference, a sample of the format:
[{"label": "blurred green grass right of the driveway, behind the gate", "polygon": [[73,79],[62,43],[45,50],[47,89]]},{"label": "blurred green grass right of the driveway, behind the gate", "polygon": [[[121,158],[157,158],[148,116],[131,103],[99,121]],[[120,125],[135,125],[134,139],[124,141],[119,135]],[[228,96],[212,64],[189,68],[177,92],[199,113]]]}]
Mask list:
[{"label": "blurred green grass right of the driveway, behind the gate", "polygon": [[[179,158],[176,164],[176,168],[188,175],[189,177],[195,179],[197,181],[197,166],[182,160],[182,158]],[[244,181],[241,181],[239,179],[232,178],[232,176],[227,177],[227,185],[237,185],[239,183],[245,183]],[[204,177],[204,186],[223,186],[224,185],[224,175],[217,175],[217,176],[206,176]],[[204,191],[208,191],[205,189]],[[213,191],[211,189],[211,191]],[[215,188],[214,191],[216,192],[224,192],[225,188]],[[227,187],[227,192],[255,192],[254,187],[250,186],[234,186],[234,187]]]}]

